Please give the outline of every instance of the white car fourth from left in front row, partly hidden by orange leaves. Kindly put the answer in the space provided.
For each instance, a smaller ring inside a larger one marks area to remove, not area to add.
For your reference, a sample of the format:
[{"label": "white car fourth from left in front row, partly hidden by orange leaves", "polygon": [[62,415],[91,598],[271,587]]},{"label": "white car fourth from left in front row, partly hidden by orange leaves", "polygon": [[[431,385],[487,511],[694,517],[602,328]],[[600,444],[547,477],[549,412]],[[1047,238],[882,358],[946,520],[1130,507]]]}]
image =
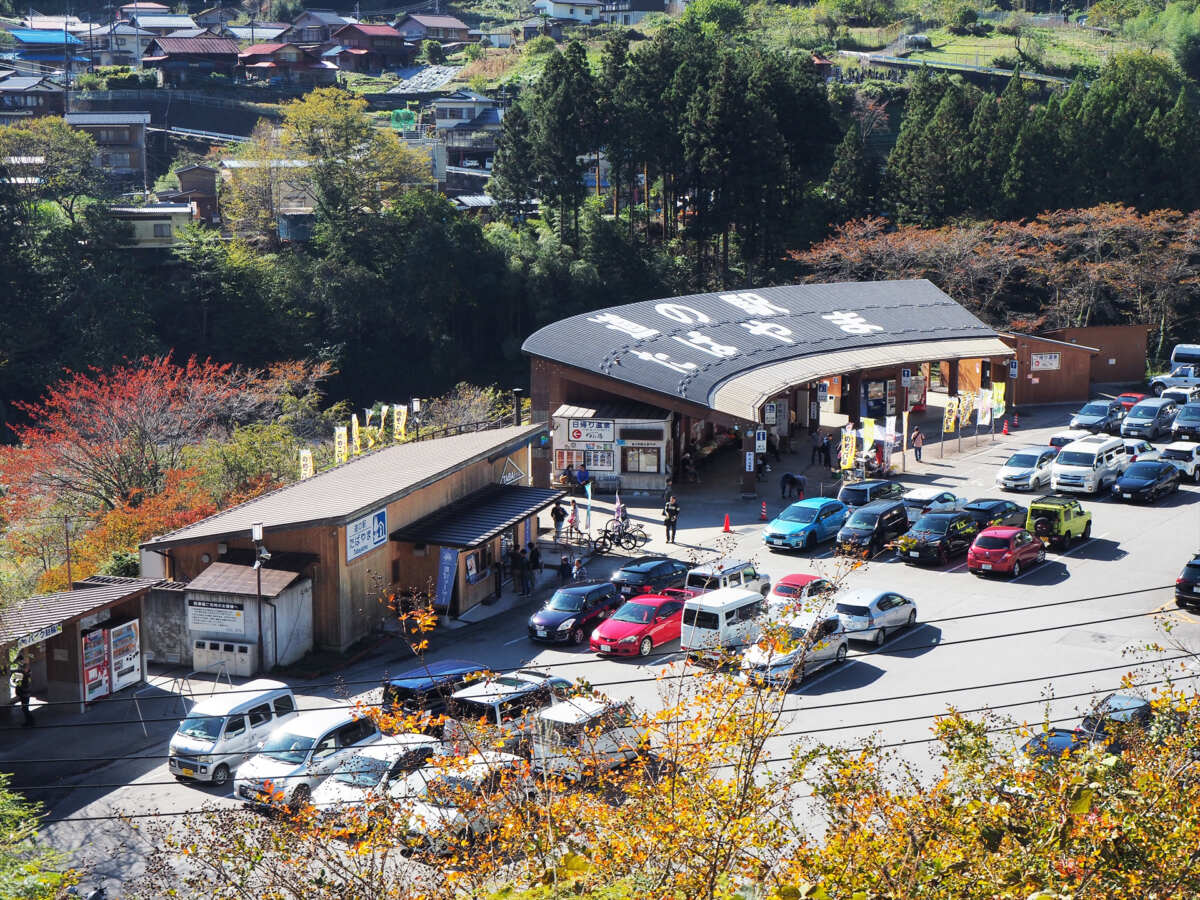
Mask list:
[{"label": "white car fourth from left in front row, partly hidden by orange leaves", "polygon": [[389,793],[408,833],[401,853],[445,853],[487,834],[499,823],[505,806],[536,794],[527,768],[528,763],[514,754],[481,750],[437,760],[395,784]]}]

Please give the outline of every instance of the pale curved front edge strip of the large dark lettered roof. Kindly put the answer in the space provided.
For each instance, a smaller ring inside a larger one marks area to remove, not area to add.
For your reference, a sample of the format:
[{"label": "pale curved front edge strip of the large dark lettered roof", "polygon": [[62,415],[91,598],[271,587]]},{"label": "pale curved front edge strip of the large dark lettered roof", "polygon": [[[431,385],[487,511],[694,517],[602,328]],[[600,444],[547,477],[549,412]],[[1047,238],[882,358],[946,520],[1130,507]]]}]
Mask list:
[{"label": "pale curved front edge strip of the large dark lettered roof", "polygon": [[1013,350],[998,337],[954,341],[914,341],[858,350],[822,353],[784,360],[755,368],[721,384],[713,394],[712,408],[742,419],[757,418],[758,408],[792,385],[860,368],[902,366],[924,360],[980,359],[1010,356]]}]

